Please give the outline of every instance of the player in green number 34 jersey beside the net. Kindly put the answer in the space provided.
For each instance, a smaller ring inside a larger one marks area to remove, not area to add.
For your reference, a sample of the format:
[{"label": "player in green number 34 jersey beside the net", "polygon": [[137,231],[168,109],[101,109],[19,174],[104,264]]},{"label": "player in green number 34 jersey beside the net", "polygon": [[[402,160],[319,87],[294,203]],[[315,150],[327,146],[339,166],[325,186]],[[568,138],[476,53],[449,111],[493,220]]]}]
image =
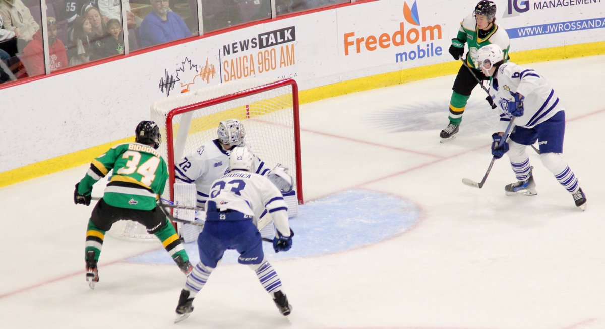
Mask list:
[{"label": "player in green number 34 jersey beside the net", "polygon": [[135,130],[135,142],[119,144],[93,160],[85,176],[76,184],[74,203],[90,205],[93,184],[111,170],[103,198],[93,209],[86,232],[86,279],[91,289],[99,281],[97,261],[105,232],[113,223],[129,219],[147,228],[160,239],[168,254],[183,273],[191,272],[189,257],[172,223],[156,201],[168,179],[166,162],[156,151],[162,142],[160,129],[153,121],[141,121]]}]

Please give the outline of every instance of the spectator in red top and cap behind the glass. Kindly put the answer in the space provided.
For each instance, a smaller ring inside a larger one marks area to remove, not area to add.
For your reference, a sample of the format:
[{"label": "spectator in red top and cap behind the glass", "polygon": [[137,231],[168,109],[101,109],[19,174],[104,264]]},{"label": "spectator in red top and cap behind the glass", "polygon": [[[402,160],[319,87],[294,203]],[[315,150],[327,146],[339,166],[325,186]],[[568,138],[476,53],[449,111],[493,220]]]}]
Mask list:
[{"label": "spectator in red top and cap behind the glass", "polygon": [[[57,19],[47,18],[48,26],[48,53],[50,53],[50,72],[67,68],[67,53],[63,42],[57,39]],[[23,50],[21,60],[30,77],[44,74],[44,46],[42,45],[42,31],[38,30],[30,43]]]}]

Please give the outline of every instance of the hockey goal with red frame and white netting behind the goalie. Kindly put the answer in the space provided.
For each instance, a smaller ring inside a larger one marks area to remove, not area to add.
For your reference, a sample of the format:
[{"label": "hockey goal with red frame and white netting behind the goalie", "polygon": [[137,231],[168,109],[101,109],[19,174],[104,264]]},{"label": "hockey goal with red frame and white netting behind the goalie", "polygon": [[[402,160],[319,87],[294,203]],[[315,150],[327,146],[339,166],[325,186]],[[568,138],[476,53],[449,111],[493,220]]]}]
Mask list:
[{"label": "hockey goal with red frame and white netting behind the goalie", "polygon": [[[158,151],[170,172],[163,198],[172,200],[175,162],[217,139],[218,124],[227,119],[243,123],[244,141],[269,168],[278,163],[290,168],[302,203],[298,86],[292,79],[233,81],[155,101],[151,120],[160,126]],[[129,236],[141,233],[131,231]]]}]

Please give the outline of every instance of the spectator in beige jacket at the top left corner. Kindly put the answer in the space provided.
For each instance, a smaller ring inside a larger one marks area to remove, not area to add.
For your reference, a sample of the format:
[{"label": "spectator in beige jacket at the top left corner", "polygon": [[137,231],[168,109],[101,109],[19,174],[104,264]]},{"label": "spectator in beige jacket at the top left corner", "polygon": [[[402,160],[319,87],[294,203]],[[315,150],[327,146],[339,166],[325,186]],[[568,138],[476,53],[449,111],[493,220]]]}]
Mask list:
[{"label": "spectator in beige jacket at the top left corner", "polygon": [[0,0],[0,16],[4,28],[15,32],[18,36],[17,51],[21,53],[40,29],[40,25],[36,23],[30,9],[21,0]]}]

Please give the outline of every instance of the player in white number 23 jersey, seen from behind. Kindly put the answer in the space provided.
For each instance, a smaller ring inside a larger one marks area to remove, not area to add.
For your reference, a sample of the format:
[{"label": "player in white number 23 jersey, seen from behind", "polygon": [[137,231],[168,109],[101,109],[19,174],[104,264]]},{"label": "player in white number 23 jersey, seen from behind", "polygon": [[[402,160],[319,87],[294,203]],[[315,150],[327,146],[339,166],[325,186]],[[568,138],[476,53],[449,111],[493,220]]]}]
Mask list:
[{"label": "player in white number 23 jersey, seen from behind", "polygon": [[250,266],[263,288],[284,316],[292,306],[282,291],[280,276],[264,257],[261,235],[253,217],[268,211],[275,221],[275,252],[292,248],[294,233],[290,229],[287,205],[280,190],[265,176],[253,173],[253,155],[246,147],[236,147],[229,156],[231,171],[212,182],[206,202],[206,222],[198,237],[200,261],[188,275],[176,308],[175,322],[188,318],[192,302],[204,287],[212,270],[227,249],[240,253],[238,262]]}]

